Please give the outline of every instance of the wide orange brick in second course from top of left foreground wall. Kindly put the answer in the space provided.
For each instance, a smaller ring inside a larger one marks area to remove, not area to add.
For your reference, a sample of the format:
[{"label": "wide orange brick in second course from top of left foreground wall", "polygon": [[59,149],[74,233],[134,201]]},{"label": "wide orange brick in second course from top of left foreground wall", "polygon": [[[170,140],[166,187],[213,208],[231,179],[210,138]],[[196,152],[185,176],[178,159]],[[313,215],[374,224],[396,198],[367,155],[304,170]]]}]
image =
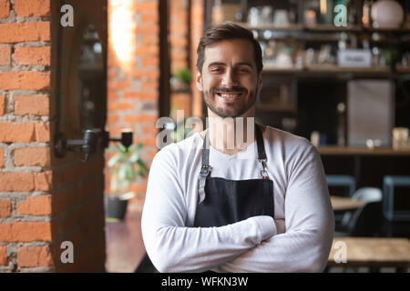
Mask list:
[{"label": "wide orange brick in second course from top of left foreground wall", "polygon": [[50,22],[0,24],[0,43],[22,43],[50,40]]}]

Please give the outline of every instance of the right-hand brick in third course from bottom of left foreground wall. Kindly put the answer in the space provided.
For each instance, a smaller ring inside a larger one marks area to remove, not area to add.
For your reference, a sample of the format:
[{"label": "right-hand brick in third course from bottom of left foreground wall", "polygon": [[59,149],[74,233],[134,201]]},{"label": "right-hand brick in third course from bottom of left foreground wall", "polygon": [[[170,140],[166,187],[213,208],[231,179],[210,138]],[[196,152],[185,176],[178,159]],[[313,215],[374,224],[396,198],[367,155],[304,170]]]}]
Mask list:
[{"label": "right-hand brick in third course from bottom of left foreground wall", "polygon": [[17,203],[17,213],[27,216],[48,216],[51,214],[51,196],[28,196]]}]

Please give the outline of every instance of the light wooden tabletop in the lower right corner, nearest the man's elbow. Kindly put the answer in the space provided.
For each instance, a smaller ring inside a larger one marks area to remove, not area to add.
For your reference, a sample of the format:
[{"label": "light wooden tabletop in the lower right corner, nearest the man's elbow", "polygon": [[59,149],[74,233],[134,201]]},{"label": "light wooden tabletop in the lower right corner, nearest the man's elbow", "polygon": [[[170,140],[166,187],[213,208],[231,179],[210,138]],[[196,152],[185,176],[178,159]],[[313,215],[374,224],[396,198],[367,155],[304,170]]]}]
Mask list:
[{"label": "light wooden tabletop in the lower right corner, nearest the man's elbow", "polygon": [[[341,261],[345,256],[345,263]],[[328,266],[410,267],[410,241],[392,237],[335,237]]]}]

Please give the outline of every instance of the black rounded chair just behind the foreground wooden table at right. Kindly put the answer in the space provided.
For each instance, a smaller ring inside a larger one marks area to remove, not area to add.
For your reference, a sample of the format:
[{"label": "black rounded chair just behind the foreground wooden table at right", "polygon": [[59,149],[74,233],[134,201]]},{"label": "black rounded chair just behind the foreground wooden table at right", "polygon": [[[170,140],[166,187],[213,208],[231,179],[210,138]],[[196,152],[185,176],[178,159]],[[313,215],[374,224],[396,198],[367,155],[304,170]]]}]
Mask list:
[{"label": "black rounded chair just behind the foreground wooden table at right", "polygon": [[382,202],[369,202],[356,209],[343,231],[334,232],[334,237],[341,236],[380,236],[383,223]]}]

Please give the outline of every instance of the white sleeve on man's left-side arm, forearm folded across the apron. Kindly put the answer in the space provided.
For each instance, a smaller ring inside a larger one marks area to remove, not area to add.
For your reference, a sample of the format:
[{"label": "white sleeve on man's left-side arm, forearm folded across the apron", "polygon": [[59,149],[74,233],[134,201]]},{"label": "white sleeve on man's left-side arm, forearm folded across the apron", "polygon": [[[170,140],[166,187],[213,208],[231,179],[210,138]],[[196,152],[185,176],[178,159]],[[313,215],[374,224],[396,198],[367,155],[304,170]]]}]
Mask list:
[{"label": "white sleeve on man's left-side arm, forearm folded across the apron", "polygon": [[228,226],[187,227],[178,163],[167,147],[150,167],[141,218],[144,245],[159,272],[210,270],[276,234],[271,216],[254,216]]}]

